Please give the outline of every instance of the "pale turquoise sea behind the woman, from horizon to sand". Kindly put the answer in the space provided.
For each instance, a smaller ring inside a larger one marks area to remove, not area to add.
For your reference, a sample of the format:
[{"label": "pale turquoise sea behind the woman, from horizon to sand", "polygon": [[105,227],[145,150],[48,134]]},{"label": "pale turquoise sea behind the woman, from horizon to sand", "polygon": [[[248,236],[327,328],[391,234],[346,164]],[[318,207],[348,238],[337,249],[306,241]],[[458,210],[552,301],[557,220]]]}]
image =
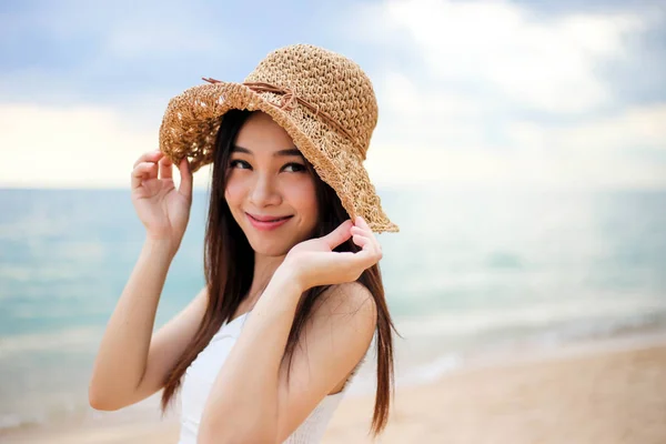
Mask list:
[{"label": "pale turquoise sea behind the woman, from horizon to sand", "polygon": [[[379,235],[398,384],[501,350],[666,330],[666,191],[379,192],[401,226]],[[195,191],[155,327],[203,285],[205,215]],[[129,190],[0,190],[0,435],[104,416],[88,381],[143,233]]]}]

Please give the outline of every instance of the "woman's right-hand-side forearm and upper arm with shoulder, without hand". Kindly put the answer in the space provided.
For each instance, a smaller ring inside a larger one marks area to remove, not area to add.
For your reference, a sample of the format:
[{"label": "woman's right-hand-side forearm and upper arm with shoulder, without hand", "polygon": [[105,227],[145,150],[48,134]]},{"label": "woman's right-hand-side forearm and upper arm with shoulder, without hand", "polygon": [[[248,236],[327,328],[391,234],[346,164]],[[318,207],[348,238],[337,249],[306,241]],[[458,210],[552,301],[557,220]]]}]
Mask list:
[{"label": "woman's right-hand-side forearm and upper arm with shoulder, without hand", "polygon": [[[282,362],[300,290],[272,280],[209,395],[198,443],[282,443],[367,352],[376,305],[359,283],[335,285]],[[305,344],[306,341],[306,344]]]}]

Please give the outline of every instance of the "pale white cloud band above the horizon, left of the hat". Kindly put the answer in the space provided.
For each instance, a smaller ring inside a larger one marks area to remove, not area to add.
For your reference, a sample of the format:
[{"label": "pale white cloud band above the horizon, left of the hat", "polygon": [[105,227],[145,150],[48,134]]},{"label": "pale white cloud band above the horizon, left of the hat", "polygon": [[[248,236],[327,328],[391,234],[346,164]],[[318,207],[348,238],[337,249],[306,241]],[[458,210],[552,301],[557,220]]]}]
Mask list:
[{"label": "pale white cloud band above the horizon, left of the hat", "polygon": [[[134,161],[158,148],[158,128],[139,129],[100,107],[0,105],[0,186],[129,190]],[[208,179],[200,170],[195,186]]]}]

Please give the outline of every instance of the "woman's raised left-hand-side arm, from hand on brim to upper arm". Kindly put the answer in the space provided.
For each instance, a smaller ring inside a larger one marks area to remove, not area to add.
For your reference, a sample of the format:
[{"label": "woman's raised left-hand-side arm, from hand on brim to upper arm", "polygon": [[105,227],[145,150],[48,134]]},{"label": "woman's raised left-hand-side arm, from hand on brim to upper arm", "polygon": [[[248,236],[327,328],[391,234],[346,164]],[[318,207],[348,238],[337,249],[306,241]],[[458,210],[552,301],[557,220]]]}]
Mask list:
[{"label": "woman's raised left-hand-side arm, from hand on brim to upper arm", "polygon": [[170,159],[142,154],[131,174],[132,203],[147,240],[102,337],[89,386],[90,405],[118,410],[160,390],[190,343],[208,303],[205,290],[152,337],[155,312],[192,204],[192,173],[181,160],[180,188]]}]

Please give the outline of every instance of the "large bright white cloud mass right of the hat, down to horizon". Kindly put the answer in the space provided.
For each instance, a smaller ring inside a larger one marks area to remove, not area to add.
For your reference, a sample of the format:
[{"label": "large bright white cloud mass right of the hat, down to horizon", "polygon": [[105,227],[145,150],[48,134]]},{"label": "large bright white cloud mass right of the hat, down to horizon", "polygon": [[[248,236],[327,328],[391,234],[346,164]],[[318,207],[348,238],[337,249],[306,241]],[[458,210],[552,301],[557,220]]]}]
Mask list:
[{"label": "large bright white cloud mass right of the hat, down to horizon", "polygon": [[625,103],[623,83],[605,75],[613,63],[639,63],[632,44],[663,21],[648,12],[546,17],[508,2],[434,0],[362,9],[366,26],[354,38],[394,49],[390,68],[372,75],[381,119],[371,175],[445,186],[666,186],[666,103]]}]

